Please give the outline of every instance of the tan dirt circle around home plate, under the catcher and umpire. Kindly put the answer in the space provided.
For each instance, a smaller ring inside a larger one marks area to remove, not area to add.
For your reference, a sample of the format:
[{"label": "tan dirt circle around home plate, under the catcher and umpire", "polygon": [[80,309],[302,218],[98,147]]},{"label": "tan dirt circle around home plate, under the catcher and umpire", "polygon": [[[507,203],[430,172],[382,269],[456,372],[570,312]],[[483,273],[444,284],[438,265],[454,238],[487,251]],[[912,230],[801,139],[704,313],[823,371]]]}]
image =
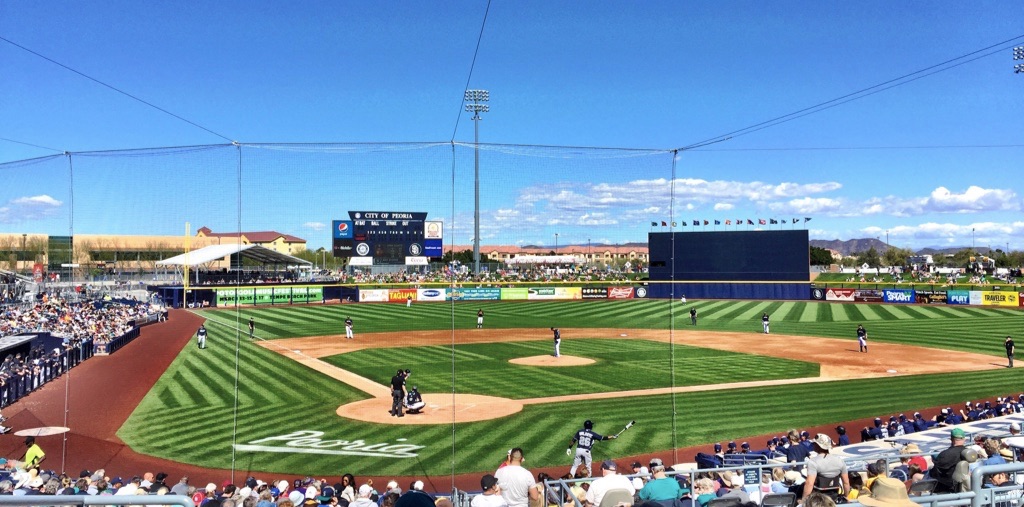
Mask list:
[{"label": "tan dirt circle around home plate, under the catcher and umpire", "polygon": [[338,407],[338,415],[378,424],[452,424],[498,419],[522,411],[514,399],[480,394],[424,393],[427,407],[420,414],[394,417],[391,398],[375,397]]}]

